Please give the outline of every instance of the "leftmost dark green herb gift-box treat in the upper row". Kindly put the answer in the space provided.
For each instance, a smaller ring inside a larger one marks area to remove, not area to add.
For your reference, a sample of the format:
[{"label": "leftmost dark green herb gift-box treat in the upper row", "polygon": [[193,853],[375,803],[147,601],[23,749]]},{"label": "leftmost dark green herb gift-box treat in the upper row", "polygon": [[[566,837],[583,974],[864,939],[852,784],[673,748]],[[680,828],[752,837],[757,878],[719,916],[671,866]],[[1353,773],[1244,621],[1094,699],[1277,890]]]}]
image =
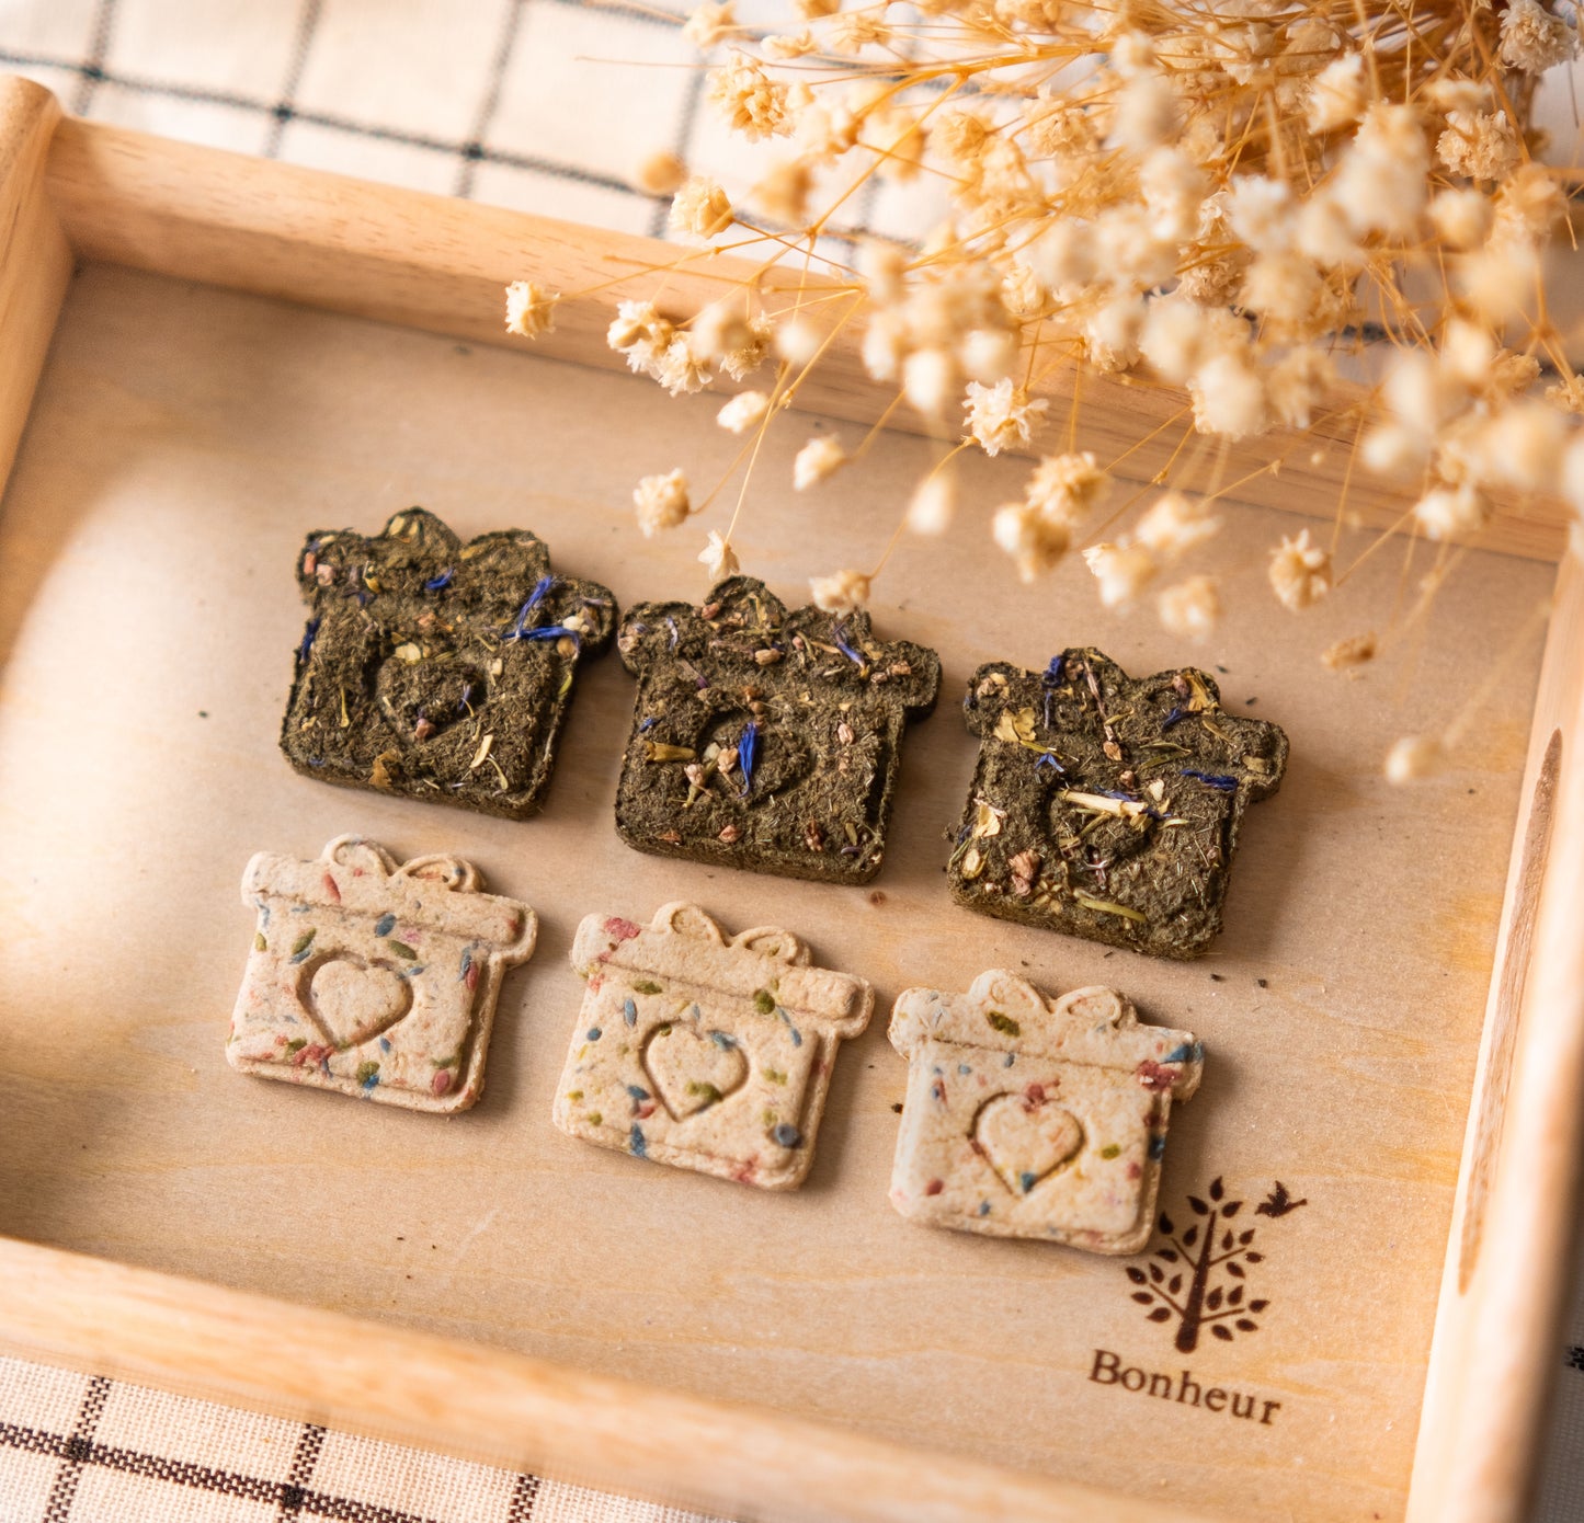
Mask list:
[{"label": "leftmost dark green herb gift-box treat in the upper row", "polygon": [[616,603],[526,530],[461,540],[423,508],[309,535],[312,608],[280,749],[306,777],[521,820],[539,811],[578,665]]}]

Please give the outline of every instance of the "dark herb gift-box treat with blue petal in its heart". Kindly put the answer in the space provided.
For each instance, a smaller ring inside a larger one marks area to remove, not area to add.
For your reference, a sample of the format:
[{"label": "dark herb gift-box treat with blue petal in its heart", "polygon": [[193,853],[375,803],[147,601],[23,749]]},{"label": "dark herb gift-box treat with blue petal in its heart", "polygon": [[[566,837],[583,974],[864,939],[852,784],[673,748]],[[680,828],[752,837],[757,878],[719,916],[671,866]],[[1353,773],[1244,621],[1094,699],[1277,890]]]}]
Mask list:
[{"label": "dark herb gift-box treat with blue petal in its heart", "polygon": [[699,608],[640,603],[618,649],[638,679],[623,841],[786,877],[874,877],[903,727],[941,686],[933,651],[876,640],[865,613],[789,613],[751,576]]}]

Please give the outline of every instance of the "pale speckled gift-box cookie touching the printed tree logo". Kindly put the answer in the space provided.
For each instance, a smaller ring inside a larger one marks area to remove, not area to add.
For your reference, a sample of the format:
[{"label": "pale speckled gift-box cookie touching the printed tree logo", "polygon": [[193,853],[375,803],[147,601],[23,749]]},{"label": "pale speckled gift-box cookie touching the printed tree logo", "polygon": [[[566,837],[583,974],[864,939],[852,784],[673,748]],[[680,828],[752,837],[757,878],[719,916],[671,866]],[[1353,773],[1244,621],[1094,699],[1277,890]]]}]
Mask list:
[{"label": "pale speckled gift-box cookie touching the printed tree logo", "polygon": [[1193,1032],[1140,1026],[1115,989],[1052,1002],[992,969],[966,994],[904,989],[890,1040],[908,1059],[903,1216],[1096,1254],[1148,1243],[1172,1096],[1199,1088]]}]

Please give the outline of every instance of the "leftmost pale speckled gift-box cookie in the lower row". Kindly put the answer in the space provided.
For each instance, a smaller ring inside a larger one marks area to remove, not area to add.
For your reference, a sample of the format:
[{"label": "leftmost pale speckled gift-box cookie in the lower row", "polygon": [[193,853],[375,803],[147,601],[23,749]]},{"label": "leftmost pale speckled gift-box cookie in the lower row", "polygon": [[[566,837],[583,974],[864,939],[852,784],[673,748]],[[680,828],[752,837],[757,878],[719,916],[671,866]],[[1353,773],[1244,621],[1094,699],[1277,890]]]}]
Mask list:
[{"label": "leftmost pale speckled gift-box cookie in the lower row", "polygon": [[410,1110],[467,1110],[485,1084],[501,975],[534,951],[526,904],[455,856],[394,858],[337,836],[317,861],[260,852],[258,931],[231,1015],[233,1069]]}]

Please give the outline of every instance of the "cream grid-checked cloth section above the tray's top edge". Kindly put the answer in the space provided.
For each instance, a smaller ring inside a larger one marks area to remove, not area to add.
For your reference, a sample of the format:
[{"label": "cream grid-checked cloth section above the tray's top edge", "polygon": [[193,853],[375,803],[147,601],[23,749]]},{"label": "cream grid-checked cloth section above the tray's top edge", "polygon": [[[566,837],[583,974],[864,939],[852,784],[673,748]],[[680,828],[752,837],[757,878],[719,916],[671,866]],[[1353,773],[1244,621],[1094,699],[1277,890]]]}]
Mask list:
[{"label": "cream grid-checked cloth section above the tray's top edge", "polygon": [[[668,199],[634,182],[646,155],[670,149],[733,199],[763,173],[705,108],[686,11],[684,0],[0,0],[0,68],[93,120],[664,236]],[[738,14],[770,27],[789,13],[748,0]],[[876,187],[835,231],[912,237],[927,211],[917,192]]]}]

